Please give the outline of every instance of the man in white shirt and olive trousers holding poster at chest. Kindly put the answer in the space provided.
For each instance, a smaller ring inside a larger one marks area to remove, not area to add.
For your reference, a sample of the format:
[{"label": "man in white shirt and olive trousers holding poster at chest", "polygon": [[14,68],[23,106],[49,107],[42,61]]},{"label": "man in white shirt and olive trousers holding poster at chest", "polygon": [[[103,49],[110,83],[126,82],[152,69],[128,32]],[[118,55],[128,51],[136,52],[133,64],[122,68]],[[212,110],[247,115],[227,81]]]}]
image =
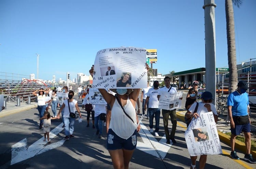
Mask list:
[{"label": "man in white shirt and olive trousers holding poster at chest", "polygon": [[[171,87],[171,85],[170,85],[171,80],[169,77],[165,77],[164,82],[165,82],[165,86],[160,89],[161,91],[167,91],[170,93],[177,92],[174,87]],[[180,99],[182,99],[182,98],[180,98]],[[166,143],[170,144],[170,139],[172,140],[172,143],[176,143],[176,140],[174,139],[175,131],[176,131],[176,127],[177,127],[176,108],[173,108],[170,110],[162,109],[162,116],[163,116],[163,127],[165,128]],[[169,134],[169,129],[168,129],[169,116],[171,117],[171,122],[172,122],[172,131],[170,134]]]}]

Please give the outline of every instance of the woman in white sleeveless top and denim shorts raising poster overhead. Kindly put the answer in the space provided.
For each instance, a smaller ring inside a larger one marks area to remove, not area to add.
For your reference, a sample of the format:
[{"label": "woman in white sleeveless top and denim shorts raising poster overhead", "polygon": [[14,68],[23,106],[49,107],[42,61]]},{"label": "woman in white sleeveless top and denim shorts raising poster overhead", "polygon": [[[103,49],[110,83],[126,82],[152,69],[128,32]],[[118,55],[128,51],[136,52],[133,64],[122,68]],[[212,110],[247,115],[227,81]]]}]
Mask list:
[{"label": "woman in white sleeveless top and denim shorts raising poster overhead", "polygon": [[[90,75],[93,76],[92,67]],[[146,64],[146,69],[149,70]],[[107,149],[110,153],[114,169],[128,169],[132,154],[137,146],[137,132],[140,131],[136,114],[136,101],[140,89],[117,88],[111,89],[116,96],[109,94],[105,89],[99,89],[111,111],[106,115],[106,129],[108,133]],[[125,114],[125,115],[124,115]]]}]

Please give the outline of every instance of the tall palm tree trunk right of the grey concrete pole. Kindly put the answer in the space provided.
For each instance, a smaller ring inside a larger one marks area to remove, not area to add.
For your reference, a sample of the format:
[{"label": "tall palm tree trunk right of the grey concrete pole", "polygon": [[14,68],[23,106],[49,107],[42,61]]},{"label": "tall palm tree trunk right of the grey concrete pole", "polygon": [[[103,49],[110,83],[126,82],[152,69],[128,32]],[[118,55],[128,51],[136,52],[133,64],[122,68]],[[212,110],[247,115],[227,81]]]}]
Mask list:
[{"label": "tall palm tree trunk right of the grey concrete pole", "polygon": [[232,2],[237,7],[240,7],[242,0],[225,0],[228,41],[229,93],[235,91],[238,83],[236,43],[234,33],[234,10]]}]

